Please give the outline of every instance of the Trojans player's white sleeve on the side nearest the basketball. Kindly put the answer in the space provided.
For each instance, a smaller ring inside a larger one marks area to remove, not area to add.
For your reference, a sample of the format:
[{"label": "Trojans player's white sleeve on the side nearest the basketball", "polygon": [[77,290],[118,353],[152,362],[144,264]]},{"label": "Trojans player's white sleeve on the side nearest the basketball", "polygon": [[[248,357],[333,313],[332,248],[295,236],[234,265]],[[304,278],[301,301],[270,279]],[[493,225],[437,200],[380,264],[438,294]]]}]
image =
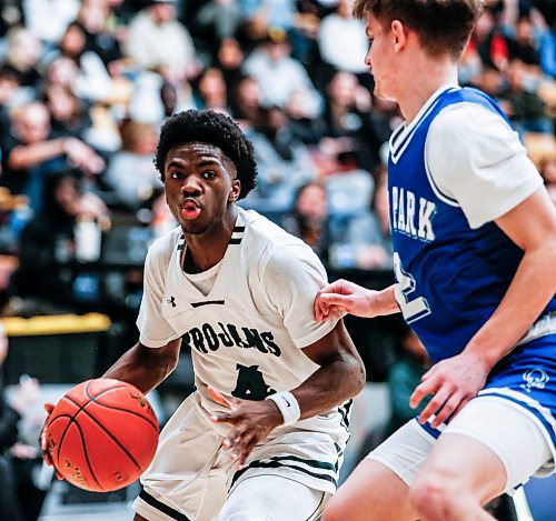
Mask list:
[{"label": "Trojans player's white sleeve on the side nearest the basketball", "polygon": [[162,348],[179,334],[162,317],[162,299],[165,295],[165,274],[168,262],[160,253],[157,243],[149,248],[145,260],[143,293],[137,328],[139,342],[148,348]]}]

